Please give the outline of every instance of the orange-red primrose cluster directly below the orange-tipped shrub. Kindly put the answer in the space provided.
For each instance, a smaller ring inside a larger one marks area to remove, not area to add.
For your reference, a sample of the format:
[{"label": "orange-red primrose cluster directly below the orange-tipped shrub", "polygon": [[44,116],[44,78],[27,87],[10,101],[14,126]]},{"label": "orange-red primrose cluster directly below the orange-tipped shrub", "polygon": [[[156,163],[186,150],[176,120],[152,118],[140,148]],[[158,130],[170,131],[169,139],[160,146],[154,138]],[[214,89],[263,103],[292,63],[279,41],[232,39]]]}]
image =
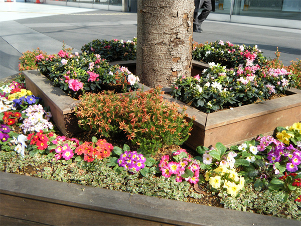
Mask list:
[{"label": "orange-red primrose cluster directly below the orange-tipped shrub", "polygon": [[84,142],[75,149],[75,154],[84,155],[84,161],[93,162],[94,159],[103,159],[110,156],[113,146],[104,139],[99,139],[96,143]]}]

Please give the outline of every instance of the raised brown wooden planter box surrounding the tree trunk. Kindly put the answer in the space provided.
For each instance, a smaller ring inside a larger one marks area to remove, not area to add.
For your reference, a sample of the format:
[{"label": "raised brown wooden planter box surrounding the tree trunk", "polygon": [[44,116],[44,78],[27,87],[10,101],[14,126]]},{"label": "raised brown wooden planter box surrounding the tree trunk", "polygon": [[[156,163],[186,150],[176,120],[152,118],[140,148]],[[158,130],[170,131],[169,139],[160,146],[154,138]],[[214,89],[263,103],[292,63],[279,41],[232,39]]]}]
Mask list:
[{"label": "raised brown wooden planter box surrounding the tree trunk", "polygon": [[[135,61],[118,61],[111,64],[126,66],[135,72]],[[208,64],[193,60],[193,76],[201,74]],[[80,132],[77,119],[73,114],[73,107],[77,103],[58,87],[53,87],[52,82],[39,71],[23,71],[26,86],[34,95],[41,97],[46,106],[50,106],[52,119],[64,135]],[[143,86],[143,90],[149,87]],[[215,146],[221,142],[225,146],[241,144],[251,140],[257,135],[272,135],[276,127],[291,126],[301,121],[301,90],[291,88],[285,97],[235,107],[206,114],[191,106],[178,101],[169,95],[164,98],[187,106],[190,117],[195,116],[193,130],[186,144],[196,149],[198,146]],[[190,120],[191,118],[188,118]]]}]

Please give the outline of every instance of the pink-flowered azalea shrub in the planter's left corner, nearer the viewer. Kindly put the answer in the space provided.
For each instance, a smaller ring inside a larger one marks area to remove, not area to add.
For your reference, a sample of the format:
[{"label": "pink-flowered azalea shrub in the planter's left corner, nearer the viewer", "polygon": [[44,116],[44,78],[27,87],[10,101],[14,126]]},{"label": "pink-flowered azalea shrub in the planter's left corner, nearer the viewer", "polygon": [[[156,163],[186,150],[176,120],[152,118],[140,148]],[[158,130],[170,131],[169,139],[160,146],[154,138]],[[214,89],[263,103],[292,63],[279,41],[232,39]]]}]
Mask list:
[{"label": "pink-flowered azalea shrub in the planter's left corner, nearer the viewer", "polygon": [[127,92],[136,89],[139,80],[127,68],[109,65],[98,54],[73,55],[61,50],[57,55],[39,55],[37,59],[41,73],[74,97],[84,91]]}]

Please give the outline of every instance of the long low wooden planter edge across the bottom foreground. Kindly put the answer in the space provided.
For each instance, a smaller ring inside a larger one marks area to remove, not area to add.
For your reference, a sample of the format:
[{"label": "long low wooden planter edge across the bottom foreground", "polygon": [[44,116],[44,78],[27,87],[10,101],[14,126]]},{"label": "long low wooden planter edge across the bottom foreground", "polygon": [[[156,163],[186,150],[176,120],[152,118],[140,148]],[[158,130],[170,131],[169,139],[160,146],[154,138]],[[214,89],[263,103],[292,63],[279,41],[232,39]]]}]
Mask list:
[{"label": "long low wooden planter edge across the bottom foreground", "polygon": [[0,172],[1,225],[300,225],[297,220]]}]

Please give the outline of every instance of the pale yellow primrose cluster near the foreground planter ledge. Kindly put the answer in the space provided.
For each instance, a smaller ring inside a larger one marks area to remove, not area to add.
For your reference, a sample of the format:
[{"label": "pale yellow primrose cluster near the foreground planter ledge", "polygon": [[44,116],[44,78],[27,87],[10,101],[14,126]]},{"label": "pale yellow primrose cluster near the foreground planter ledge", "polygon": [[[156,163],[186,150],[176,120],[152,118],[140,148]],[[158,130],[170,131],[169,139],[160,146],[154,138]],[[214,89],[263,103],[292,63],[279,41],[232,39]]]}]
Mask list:
[{"label": "pale yellow primrose cluster near the foreground planter ledge", "polygon": [[226,189],[227,193],[235,197],[244,187],[244,178],[238,177],[235,169],[229,169],[224,165],[214,170],[206,171],[205,180],[209,181],[212,188],[217,190]]}]

